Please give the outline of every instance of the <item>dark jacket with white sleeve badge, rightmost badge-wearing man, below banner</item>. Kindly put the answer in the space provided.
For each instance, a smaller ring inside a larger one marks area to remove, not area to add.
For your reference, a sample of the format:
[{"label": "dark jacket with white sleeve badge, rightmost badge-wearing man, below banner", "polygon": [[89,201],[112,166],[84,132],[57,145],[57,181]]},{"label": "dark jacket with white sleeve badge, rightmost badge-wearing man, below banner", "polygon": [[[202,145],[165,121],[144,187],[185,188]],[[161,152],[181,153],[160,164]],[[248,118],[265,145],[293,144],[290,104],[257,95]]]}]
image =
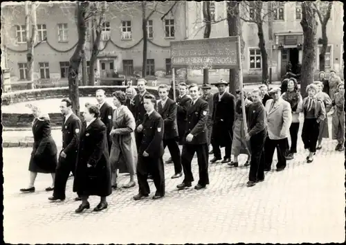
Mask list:
[{"label": "dark jacket with white sleeve badge, rightmost badge-wearing man, below banner", "polygon": [[[188,109],[188,125],[186,127],[183,142],[184,144],[202,145],[208,143],[207,119],[208,102],[199,98],[194,105]],[[186,136],[192,134],[191,142],[186,141]]]}]

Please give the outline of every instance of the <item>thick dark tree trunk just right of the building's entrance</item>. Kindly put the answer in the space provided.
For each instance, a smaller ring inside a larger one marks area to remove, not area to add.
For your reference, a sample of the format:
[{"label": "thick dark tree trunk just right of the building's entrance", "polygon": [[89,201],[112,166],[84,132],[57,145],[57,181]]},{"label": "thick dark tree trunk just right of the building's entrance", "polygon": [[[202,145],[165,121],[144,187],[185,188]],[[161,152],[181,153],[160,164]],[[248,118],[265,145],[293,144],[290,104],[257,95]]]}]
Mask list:
[{"label": "thick dark tree trunk just right of the building's entrance", "polygon": [[304,42],[302,55],[302,71],[300,93],[303,98],[307,96],[307,85],[313,83],[313,74],[316,65],[316,33],[318,22],[316,21],[316,10],[312,2],[302,2],[302,26]]}]

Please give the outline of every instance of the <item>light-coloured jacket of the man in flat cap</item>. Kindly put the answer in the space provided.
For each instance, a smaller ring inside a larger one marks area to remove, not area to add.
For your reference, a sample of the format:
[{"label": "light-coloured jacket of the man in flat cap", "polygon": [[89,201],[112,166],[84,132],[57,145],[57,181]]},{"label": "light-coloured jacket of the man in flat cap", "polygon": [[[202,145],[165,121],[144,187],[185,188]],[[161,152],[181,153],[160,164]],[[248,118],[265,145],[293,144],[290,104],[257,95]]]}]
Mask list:
[{"label": "light-coloured jacket of the man in flat cap", "polygon": [[271,109],[274,100],[266,102],[267,129],[271,140],[280,140],[289,136],[292,123],[292,110],[289,102],[280,98]]}]

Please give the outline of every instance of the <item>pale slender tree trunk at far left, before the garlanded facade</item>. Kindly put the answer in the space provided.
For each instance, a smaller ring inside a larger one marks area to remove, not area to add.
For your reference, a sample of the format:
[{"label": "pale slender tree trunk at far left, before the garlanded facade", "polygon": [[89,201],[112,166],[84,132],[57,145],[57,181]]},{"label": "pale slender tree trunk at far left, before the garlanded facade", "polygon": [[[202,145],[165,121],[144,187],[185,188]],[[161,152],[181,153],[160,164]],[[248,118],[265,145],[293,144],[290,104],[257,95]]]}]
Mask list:
[{"label": "pale slender tree trunk at far left, before the garlanded facade", "polygon": [[[29,4],[31,8],[29,10]],[[34,47],[37,39],[37,18],[36,18],[37,3],[25,3],[25,24],[26,24],[26,46],[28,53],[26,54],[26,62],[28,66],[28,79],[34,81]],[[31,32],[30,32],[31,24]],[[31,35],[30,35],[31,34]],[[33,87],[32,87],[33,89]]]}]

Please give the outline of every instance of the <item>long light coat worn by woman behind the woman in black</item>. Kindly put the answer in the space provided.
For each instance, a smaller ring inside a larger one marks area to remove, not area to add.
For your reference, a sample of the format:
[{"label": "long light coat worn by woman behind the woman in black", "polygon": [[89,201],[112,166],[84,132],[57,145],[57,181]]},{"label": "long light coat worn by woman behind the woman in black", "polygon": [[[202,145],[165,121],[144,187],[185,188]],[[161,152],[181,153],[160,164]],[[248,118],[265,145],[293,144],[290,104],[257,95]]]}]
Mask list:
[{"label": "long light coat worn by woman behind the woman in black", "polygon": [[112,171],[119,168],[120,172],[135,174],[137,164],[135,128],[136,121],[127,106],[122,106],[113,112],[112,129],[115,129],[116,133],[111,136],[110,162]]}]

